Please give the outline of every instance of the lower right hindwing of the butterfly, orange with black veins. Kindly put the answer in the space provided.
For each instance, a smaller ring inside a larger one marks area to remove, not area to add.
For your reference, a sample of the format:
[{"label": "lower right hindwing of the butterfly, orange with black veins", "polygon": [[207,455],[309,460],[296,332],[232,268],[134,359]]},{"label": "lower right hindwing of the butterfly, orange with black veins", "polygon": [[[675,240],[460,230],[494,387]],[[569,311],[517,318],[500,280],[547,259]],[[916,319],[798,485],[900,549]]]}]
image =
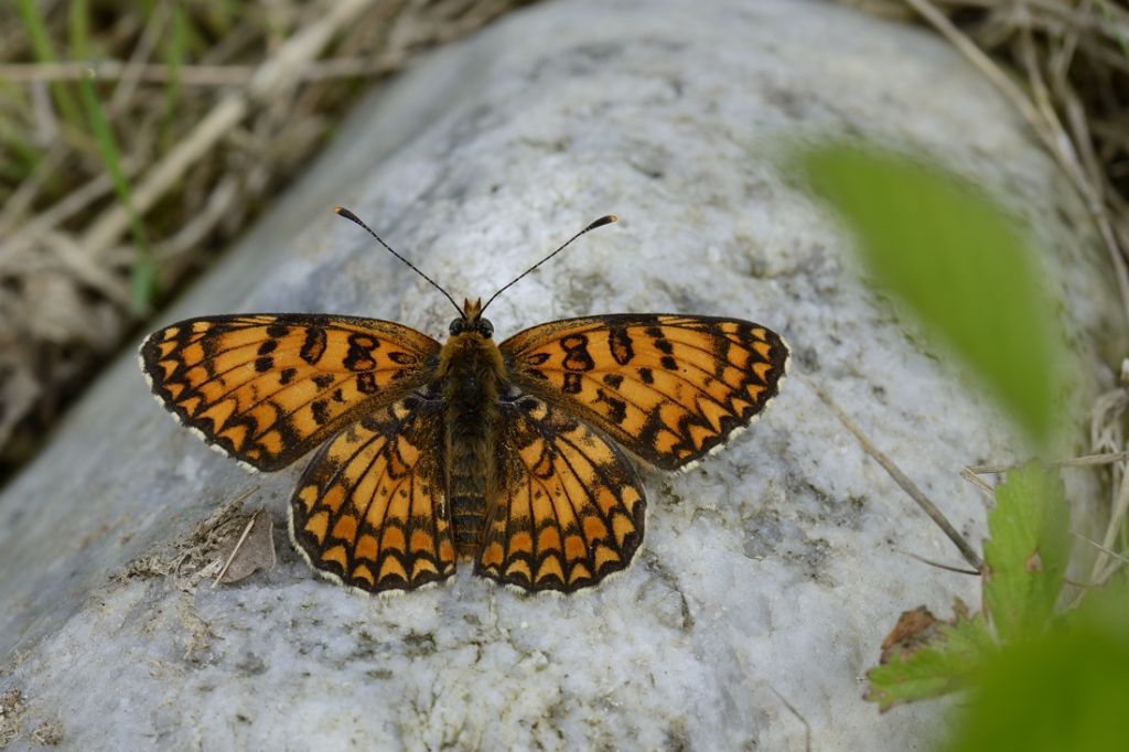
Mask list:
[{"label": "lower right hindwing of the butterfly, orange with black veins", "polygon": [[500,410],[497,488],[475,574],[570,593],[624,569],[647,504],[630,461],[601,431],[535,396]]}]

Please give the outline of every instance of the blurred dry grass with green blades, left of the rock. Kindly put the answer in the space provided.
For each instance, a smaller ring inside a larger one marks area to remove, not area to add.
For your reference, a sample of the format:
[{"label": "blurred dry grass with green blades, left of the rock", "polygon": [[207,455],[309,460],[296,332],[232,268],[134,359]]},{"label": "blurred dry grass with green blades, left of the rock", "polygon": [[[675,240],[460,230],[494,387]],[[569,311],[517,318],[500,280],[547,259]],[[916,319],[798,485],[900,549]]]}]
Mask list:
[{"label": "blurred dry grass with green blades, left of the rock", "polygon": [[0,3],[0,478],[359,93],[526,2]]}]

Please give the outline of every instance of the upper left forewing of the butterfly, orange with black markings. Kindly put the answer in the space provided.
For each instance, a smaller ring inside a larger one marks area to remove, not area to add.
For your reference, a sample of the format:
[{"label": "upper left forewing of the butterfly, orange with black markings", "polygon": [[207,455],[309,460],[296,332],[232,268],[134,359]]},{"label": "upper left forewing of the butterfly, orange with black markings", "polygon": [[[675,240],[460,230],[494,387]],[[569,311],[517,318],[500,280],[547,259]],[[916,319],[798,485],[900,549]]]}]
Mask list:
[{"label": "upper left forewing of the butterfly, orange with black markings", "polygon": [[141,346],[152,392],[182,423],[256,470],[278,470],[426,383],[440,346],[373,318],[190,318]]}]

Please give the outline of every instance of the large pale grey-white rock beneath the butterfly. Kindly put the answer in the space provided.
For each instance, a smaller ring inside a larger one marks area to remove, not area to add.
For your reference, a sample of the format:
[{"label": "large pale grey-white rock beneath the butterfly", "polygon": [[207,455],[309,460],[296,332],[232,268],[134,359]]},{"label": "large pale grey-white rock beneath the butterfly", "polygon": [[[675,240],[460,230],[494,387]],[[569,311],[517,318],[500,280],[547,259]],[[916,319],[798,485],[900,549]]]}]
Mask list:
[{"label": "large pale grey-white rock beneath the butterfly", "polygon": [[[440,335],[447,301],[333,204],[460,298],[615,212],[495,304],[499,339],[588,313],[760,321],[978,542],[984,499],[957,471],[1008,458],[1012,439],[776,166],[782,137],[821,130],[910,145],[1009,195],[1061,265],[1071,344],[1101,373],[1114,294],[1018,117],[930,35],[800,0],[506,18],[360,104],[165,318],[320,311]],[[123,356],[0,496],[11,744],[50,728],[86,749],[803,750],[809,732],[817,750],[914,750],[944,728],[944,702],[879,716],[860,677],[899,612],[975,603],[977,583],[907,556],[959,561],[799,379],[699,469],[645,473],[636,565],[568,598],[465,568],[395,598],[323,582],[281,532],[301,464],[248,476],[155,406]],[[279,566],[211,588],[240,501],[274,518]]]}]

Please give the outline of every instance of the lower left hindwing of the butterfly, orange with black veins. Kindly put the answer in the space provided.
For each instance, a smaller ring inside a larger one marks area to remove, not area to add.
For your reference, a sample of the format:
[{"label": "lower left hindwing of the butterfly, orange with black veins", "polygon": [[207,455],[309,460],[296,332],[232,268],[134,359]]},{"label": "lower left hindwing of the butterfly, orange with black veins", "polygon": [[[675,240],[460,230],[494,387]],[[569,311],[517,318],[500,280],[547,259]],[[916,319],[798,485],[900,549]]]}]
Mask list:
[{"label": "lower left hindwing of the butterfly, orange with black veins", "polygon": [[420,395],[373,411],[323,446],[290,500],[290,532],[309,565],[370,593],[450,577],[443,406]]}]

